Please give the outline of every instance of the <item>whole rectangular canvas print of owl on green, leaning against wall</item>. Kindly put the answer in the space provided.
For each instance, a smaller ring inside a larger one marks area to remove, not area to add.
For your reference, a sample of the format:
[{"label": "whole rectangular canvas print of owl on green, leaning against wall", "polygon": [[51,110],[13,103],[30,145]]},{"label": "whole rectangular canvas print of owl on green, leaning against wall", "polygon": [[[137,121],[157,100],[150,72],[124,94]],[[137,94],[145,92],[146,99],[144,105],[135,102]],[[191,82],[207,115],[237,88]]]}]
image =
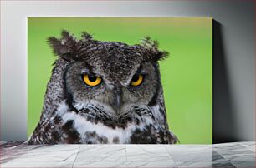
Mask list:
[{"label": "whole rectangular canvas print of owl on green, leaning against wall", "polygon": [[212,143],[212,18],[29,17],[28,144]]}]

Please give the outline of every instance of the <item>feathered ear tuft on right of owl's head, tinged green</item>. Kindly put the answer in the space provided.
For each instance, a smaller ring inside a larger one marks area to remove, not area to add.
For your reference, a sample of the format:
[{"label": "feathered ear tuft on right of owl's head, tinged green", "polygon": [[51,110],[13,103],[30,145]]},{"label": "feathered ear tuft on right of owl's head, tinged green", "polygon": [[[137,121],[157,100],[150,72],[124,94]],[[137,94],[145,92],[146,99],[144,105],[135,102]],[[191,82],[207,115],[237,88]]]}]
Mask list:
[{"label": "feathered ear tuft on right of owl's head, tinged green", "polygon": [[169,52],[166,51],[160,51],[158,49],[159,43],[156,40],[151,40],[151,37],[146,36],[141,39],[142,47],[146,48],[146,50],[149,50],[151,53],[151,60],[153,62],[162,61],[166,57],[168,57]]}]

